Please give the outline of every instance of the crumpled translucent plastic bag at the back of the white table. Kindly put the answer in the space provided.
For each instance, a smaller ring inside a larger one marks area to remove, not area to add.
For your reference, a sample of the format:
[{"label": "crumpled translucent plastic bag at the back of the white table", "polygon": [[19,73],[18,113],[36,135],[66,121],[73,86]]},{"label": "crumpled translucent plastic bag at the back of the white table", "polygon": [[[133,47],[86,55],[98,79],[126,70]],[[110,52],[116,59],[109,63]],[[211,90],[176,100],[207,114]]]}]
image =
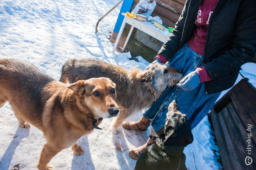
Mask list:
[{"label": "crumpled translucent plastic bag at the back of the white table", "polygon": [[133,13],[145,15],[146,17],[151,16],[152,12],[156,7],[156,1],[150,3],[149,0],[140,0],[140,2],[132,10]]}]

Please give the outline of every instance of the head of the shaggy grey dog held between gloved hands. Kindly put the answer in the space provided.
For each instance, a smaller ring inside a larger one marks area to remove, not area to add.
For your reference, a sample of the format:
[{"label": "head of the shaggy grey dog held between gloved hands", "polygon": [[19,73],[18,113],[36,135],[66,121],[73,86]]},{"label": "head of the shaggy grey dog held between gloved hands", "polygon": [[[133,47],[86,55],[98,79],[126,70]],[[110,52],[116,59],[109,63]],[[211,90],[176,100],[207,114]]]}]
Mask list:
[{"label": "head of the shaggy grey dog held between gloved hands", "polygon": [[163,65],[158,62],[150,64],[145,70],[141,82],[151,82],[159,93],[162,93],[167,86],[173,86],[183,77],[182,70]]}]

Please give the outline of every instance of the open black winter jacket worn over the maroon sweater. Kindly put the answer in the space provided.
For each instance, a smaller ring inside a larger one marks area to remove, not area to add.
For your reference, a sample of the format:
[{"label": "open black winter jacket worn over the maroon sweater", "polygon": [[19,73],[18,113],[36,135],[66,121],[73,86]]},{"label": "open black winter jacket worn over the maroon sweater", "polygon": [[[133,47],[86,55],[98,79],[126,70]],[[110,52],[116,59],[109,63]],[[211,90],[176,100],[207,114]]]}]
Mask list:
[{"label": "open black winter jacket worn over the maroon sweater", "polygon": [[[188,42],[202,0],[187,0],[175,29],[158,54],[168,60]],[[209,21],[204,68],[206,94],[232,87],[241,66],[256,56],[256,0],[219,0]],[[256,68],[255,68],[256,72]]]}]

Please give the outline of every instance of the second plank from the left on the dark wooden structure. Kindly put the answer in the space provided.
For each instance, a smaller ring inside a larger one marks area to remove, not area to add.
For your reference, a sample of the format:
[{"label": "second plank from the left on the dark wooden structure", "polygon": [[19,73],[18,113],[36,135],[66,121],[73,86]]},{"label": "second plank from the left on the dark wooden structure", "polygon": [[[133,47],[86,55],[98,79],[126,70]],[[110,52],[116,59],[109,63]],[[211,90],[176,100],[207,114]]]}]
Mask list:
[{"label": "second plank from the left on the dark wooden structure", "polygon": [[226,120],[224,120],[223,118],[223,110],[221,112],[219,112],[217,114],[217,119],[219,120],[219,124],[221,126],[221,131],[222,131],[222,134],[223,134],[223,139],[225,141],[225,145],[226,145],[226,149],[227,149],[227,153],[228,153],[228,159],[229,159],[229,162],[230,162],[230,165],[232,165],[232,168],[230,167],[230,169],[233,169],[233,170],[241,170],[242,167],[239,163],[239,159],[236,155],[236,151],[235,151],[235,148],[234,148],[234,145],[232,143],[232,139],[230,137],[230,134],[229,134],[229,127],[226,125]]}]

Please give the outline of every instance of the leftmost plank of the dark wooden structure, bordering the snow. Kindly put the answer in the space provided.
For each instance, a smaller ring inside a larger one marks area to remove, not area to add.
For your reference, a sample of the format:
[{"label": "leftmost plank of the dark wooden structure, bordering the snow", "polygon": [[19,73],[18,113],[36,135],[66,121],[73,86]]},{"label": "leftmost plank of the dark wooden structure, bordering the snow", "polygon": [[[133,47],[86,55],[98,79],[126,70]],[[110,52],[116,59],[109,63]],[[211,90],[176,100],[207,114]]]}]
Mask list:
[{"label": "leftmost plank of the dark wooden structure, bordering the snow", "polygon": [[223,140],[224,137],[223,137],[223,133],[221,131],[220,122],[217,119],[217,114],[214,110],[214,107],[212,107],[211,110],[212,110],[211,118],[212,118],[213,129],[214,129],[216,140],[218,143],[222,164],[224,167],[232,167],[232,165],[230,165],[230,162],[228,159],[228,151],[227,151],[226,145]]}]

